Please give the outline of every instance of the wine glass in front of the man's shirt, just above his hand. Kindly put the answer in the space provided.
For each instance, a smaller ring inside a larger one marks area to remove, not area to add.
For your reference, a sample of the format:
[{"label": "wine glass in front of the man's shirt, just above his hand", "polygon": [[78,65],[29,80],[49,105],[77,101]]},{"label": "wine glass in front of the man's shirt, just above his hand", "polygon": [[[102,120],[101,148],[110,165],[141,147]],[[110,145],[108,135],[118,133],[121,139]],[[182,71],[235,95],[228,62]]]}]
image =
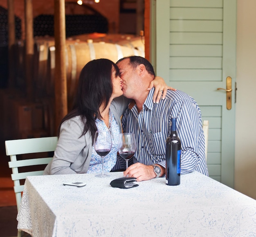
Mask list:
[{"label": "wine glass in front of the man's shirt, just above his hand", "polygon": [[126,160],[126,170],[128,168],[128,161],[134,156],[135,151],[135,135],[133,133],[121,133],[118,141],[118,152]]}]

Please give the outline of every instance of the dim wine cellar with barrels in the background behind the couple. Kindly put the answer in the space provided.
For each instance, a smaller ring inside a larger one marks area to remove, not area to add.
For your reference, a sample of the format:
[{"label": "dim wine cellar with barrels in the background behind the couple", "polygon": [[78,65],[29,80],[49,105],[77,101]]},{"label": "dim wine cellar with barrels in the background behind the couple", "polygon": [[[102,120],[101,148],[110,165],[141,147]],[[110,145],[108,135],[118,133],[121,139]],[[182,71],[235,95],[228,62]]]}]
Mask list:
[{"label": "dim wine cellar with barrels in the background behind the couple", "polygon": [[[105,2],[105,3],[104,3]],[[145,56],[144,9],[138,20],[136,0],[84,0],[65,2],[65,63],[67,107],[72,108],[77,80],[83,66],[97,58],[116,62],[130,55]],[[144,7],[144,1],[140,1]],[[0,0],[0,116],[1,140],[56,136],[54,1],[33,3],[34,54],[32,93],[27,95],[25,73],[24,2],[15,1],[13,68],[9,69],[8,6]],[[20,4],[22,7],[17,7]],[[43,4],[43,5],[42,5]],[[42,7],[43,6],[43,7]],[[47,7],[46,7],[47,6]],[[139,25],[138,22],[142,22]],[[10,84],[10,72],[13,82]]]}]

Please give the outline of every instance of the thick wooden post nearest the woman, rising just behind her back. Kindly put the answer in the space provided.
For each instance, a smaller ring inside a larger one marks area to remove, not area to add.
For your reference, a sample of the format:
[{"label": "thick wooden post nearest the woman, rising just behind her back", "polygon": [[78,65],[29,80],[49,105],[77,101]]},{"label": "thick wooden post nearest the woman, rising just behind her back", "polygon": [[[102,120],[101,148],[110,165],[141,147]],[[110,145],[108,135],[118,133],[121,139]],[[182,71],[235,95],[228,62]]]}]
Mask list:
[{"label": "thick wooden post nearest the woman, rising just behind her back", "polygon": [[55,131],[67,114],[67,75],[65,65],[65,0],[54,0],[55,37]]}]

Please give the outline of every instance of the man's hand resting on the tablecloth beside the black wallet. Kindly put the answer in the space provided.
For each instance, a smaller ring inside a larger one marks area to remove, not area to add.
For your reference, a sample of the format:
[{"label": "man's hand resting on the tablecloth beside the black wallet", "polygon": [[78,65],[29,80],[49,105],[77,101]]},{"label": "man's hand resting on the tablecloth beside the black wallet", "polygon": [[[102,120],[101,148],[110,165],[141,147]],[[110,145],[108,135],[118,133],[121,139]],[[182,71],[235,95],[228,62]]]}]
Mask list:
[{"label": "man's hand resting on the tablecloth beside the black wallet", "polygon": [[156,177],[153,171],[152,165],[144,165],[141,163],[135,163],[130,165],[126,171],[124,171],[124,176],[128,174],[128,177],[137,178],[137,181],[149,180]]}]

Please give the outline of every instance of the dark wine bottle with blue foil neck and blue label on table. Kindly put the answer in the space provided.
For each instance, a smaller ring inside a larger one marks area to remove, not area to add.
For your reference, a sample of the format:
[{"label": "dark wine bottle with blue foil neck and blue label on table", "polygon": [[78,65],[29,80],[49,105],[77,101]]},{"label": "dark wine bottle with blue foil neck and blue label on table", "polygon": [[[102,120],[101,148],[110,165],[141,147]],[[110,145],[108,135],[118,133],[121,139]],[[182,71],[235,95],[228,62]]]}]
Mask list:
[{"label": "dark wine bottle with blue foil neck and blue label on table", "polygon": [[171,118],[171,134],[166,139],[166,184],[180,184],[181,142],[176,131],[176,118]]}]

